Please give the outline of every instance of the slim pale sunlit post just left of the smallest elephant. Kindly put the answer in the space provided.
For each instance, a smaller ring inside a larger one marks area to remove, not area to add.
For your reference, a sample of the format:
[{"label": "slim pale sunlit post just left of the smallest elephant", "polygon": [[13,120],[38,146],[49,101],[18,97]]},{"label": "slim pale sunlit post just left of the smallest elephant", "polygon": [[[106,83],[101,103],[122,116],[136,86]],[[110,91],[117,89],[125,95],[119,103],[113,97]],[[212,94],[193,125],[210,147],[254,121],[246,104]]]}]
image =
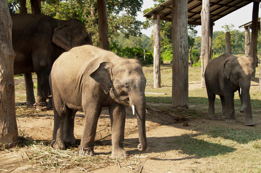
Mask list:
[{"label": "slim pale sunlit post just left of the smallest elephant", "polygon": [[210,14],[210,0],[202,1],[201,10],[201,24],[202,24],[202,43],[201,43],[201,87],[206,88],[205,84],[205,70],[209,62],[209,14]]}]

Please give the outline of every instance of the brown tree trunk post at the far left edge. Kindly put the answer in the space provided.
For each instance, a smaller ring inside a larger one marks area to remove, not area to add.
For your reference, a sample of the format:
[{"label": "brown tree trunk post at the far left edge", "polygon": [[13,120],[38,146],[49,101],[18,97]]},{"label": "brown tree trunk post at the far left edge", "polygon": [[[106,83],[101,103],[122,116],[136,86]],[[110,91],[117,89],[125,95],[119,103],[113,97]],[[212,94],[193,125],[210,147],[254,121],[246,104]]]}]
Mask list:
[{"label": "brown tree trunk post at the far left edge", "polygon": [[7,1],[0,1],[0,142],[18,140],[15,117],[14,58],[12,19]]}]

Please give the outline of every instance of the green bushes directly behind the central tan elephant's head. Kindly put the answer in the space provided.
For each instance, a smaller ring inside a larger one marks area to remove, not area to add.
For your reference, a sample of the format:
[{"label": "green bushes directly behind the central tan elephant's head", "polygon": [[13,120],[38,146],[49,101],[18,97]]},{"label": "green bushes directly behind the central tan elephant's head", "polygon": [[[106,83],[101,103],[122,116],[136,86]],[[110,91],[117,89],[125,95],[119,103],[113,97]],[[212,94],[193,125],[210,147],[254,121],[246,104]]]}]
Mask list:
[{"label": "green bushes directly behind the central tan elephant's head", "polygon": [[145,58],[145,61],[144,61],[144,49],[143,48],[137,48],[137,47],[122,48],[117,43],[112,42],[110,44],[110,51],[116,53],[116,55],[118,55],[120,57],[137,59],[143,65],[153,63],[153,55],[151,54],[151,52],[147,51],[146,49],[145,49],[145,57],[146,58]]}]

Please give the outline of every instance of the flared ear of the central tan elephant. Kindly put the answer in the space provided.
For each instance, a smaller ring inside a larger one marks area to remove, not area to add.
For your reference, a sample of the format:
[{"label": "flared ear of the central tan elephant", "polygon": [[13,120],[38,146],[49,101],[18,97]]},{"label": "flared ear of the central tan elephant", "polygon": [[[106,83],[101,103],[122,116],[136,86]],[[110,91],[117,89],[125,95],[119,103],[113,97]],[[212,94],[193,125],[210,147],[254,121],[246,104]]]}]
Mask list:
[{"label": "flared ear of the central tan elephant", "polygon": [[111,76],[113,67],[114,65],[111,62],[102,62],[100,66],[90,74],[90,77],[102,86],[105,94],[108,94],[112,87]]}]

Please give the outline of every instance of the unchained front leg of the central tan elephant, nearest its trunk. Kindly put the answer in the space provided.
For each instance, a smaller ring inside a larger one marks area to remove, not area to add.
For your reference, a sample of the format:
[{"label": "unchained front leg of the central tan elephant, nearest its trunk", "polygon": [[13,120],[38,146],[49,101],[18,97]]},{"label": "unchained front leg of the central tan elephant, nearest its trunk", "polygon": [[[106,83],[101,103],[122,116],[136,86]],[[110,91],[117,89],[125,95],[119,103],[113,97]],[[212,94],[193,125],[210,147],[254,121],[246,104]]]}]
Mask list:
[{"label": "unchained front leg of the central tan elephant, nearest its trunk", "polygon": [[112,135],[112,153],[111,156],[121,157],[127,156],[127,151],[123,148],[124,141],[124,127],[126,109],[124,105],[113,104],[109,107],[111,135]]}]

